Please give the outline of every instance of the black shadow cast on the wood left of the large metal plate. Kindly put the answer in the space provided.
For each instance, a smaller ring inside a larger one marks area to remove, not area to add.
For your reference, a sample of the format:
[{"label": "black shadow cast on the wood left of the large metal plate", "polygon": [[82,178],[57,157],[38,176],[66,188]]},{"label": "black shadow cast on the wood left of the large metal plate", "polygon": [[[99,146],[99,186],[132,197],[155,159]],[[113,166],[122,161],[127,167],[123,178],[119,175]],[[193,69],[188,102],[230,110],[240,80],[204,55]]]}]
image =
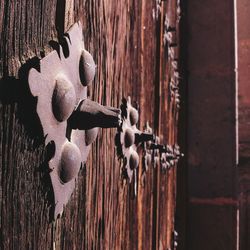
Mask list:
[{"label": "black shadow cast on the wood left of the large metal plate", "polygon": [[[44,144],[44,135],[40,119],[36,113],[37,98],[32,96],[28,86],[28,73],[31,68],[40,71],[39,58],[34,57],[22,65],[18,71],[18,79],[12,76],[5,76],[0,80],[0,102],[3,105],[13,105],[13,107],[16,105],[17,120],[23,125],[28,137],[33,140],[32,150],[35,150]],[[53,143],[49,143],[45,150],[43,163],[34,169],[34,173],[39,172],[41,182],[43,183],[42,193],[50,209],[50,221],[54,213],[54,196],[49,176],[48,160],[53,157],[54,151]]]}]

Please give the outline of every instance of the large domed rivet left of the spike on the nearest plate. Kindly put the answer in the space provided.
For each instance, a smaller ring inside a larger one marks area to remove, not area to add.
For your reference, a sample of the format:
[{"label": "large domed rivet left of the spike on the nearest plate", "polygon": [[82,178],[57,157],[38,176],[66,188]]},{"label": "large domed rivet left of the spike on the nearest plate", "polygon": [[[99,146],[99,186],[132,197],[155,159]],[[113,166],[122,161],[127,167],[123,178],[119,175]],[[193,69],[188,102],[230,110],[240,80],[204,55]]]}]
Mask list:
[{"label": "large domed rivet left of the spike on the nearest plate", "polygon": [[63,75],[56,77],[56,85],[52,97],[52,110],[55,118],[62,122],[68,119],[74,110],[76,93],[73,85]]}]

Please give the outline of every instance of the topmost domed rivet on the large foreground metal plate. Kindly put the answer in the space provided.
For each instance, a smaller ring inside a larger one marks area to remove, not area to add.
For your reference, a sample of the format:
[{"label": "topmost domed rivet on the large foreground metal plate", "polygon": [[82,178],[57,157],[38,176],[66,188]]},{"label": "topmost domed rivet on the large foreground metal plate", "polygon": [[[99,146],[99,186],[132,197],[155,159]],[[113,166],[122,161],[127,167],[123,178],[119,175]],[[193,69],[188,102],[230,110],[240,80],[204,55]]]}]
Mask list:
[{"label": "topmost domed rivet on the large foreground metal plate", "polygon": [[92,55],[87,50],[83,50],[79,64],[80,79],[83,86],[89,85],[94,80],[95,68],[96,65]]}]

